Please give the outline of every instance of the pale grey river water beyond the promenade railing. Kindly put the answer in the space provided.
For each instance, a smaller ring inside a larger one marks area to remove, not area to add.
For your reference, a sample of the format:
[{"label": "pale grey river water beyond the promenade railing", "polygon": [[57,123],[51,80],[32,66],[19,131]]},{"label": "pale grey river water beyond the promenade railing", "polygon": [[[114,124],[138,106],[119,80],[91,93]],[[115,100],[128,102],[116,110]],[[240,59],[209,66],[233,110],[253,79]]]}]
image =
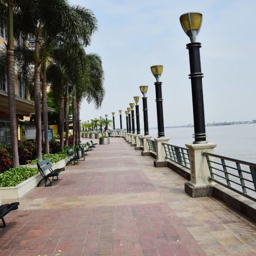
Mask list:
[{"label": "pale grey river water beyond the promenade railing", "polygon": [[[149,132],[157,138],[157,129]],[[165,128],[164,132],[169,144],[176,146],[185,147],[194,140],[194,127]],[[206,133],[208,142],[217,143],[215,154],[256,163],[256,123],[207,126]]]}]

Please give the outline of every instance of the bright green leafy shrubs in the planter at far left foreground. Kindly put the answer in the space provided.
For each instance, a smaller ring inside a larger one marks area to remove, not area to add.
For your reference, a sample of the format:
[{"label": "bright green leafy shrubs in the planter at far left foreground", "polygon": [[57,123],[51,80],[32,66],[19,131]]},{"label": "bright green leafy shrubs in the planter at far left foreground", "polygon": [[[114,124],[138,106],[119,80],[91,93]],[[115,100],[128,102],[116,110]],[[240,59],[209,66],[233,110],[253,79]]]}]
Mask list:
[{"label": "bright green leafy shrubs in the planter at far left foreground", "polygon": [[37,168],[16,167],[0,174],[0,187],[14,187],[38,173]]}]

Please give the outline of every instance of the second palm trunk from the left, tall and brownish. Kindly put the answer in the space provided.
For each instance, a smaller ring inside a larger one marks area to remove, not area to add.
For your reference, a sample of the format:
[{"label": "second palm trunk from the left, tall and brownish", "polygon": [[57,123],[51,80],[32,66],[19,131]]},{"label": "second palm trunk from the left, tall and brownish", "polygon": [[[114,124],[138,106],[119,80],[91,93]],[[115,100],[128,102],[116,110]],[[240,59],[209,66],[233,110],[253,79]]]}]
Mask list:
[{"label": "second palm trunk from the left, tall and brownish", "polygon": [[42,160],[42,127],[41,127],[41,99],[40,99],[40,59],[39,59],[39,32],[40,24],[38,26],[38,32],[35,38],[35,59],[34,59],[34,87],[35,87],[35,127],[36,127],[36,144],[37,144],[37,158]]}]

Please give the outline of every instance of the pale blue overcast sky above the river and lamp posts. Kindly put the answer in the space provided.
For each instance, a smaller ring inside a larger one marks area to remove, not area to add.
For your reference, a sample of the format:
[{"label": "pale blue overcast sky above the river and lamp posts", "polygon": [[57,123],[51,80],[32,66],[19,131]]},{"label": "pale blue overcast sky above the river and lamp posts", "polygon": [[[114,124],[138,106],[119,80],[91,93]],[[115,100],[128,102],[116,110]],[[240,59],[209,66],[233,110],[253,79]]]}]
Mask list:
[{"label": "pale blue overcast sky above the river and lamp posts", "polygon": [[[98,53],[105,72],[106,95],[101,109],[82,103],[82,121],[123,112],[142,96],[147,85],[148,119],[157,126],[155,86],[150,67],[163,65],[161,77],[164,125],[193,123],[189,58],[179,17],[203,14],[197,41],[202,43],[201,66],[205,122],[256,119],[255,0],[72,0],[91,9],[98,31],[87,53]],[[142,100],[140,120],[143,126]],[[125,114],[123,114],[123,121]],[[125,126],[123,124],[123,126]],[[116,121],[119,127],[119,121]]]}]

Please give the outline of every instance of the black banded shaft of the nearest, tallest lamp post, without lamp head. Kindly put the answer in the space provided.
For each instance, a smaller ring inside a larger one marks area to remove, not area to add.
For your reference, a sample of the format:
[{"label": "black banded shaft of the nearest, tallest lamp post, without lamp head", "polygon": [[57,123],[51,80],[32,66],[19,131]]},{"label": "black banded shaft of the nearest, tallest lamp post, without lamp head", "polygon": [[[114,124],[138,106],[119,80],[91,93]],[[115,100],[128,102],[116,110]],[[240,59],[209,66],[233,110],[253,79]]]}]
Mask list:
[{"label": "black banded shaft of the nearest, tallest lamp post, without lamp head", "polygon": [[203,73],[200,61],[200,42],[191,42],[186,45],[189,52],[189,64],[192,88],[193,114],[194,114],[194,144],[207,143],[204,120],[204,100],[203,100]]}]

